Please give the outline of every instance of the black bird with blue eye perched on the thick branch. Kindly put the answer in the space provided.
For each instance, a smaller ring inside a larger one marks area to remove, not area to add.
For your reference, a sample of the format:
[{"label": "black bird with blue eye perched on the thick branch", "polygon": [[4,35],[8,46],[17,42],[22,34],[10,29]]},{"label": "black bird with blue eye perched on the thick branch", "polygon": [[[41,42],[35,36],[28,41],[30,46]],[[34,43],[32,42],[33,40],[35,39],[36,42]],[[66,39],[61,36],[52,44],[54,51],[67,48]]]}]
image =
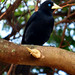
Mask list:
[{"label": "black bird with blue eye perched on the thick branch", "polygon": [[[56,5],[51,0],[42,3],[38,11],[34,12],[27,22],[22,38],[22,44],[43,45],[47,42],[54,26],[52,12],[54,9],[59,8],[61,7]],[[22,71],[25,69],[26,73],[24,74],[28,75],[29,68],[30,66],[18,66],[16,68],[16,75],[17,71],[20,71],[20,69],[22,69]]]}]

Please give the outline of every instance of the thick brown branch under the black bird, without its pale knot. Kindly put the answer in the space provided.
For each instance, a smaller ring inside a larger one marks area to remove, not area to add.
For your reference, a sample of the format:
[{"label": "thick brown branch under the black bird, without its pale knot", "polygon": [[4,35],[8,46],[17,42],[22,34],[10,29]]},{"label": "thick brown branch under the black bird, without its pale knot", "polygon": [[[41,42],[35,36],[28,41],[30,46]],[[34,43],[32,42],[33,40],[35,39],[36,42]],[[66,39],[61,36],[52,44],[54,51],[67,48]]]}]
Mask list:
[{"label": "thick brown branch under the black bird, without its pale knot", "polygon": [[[37,49],[41,58],[36,59],[27,48]],[[75,75],[75,53],[55,47],[17,45],[0,39],[0,61],[13,64],[48,66]]]}]

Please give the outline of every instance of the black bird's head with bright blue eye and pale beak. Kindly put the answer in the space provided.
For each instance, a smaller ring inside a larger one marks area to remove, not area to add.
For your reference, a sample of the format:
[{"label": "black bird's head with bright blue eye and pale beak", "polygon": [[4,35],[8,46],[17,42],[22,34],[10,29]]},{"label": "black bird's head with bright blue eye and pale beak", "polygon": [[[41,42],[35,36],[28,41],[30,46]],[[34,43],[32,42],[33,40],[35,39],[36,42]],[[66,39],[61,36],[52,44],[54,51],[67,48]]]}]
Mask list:
[{"label": "black bird's head with bright blue eye and pale beak", "polygon": [[51,0],[43,2],[39,7],[39,10],[43,10],[46,12],[47,11],[53,12],[54,9],[61,9],[61,7],[55,4],[54,2],[52,2]]}]

